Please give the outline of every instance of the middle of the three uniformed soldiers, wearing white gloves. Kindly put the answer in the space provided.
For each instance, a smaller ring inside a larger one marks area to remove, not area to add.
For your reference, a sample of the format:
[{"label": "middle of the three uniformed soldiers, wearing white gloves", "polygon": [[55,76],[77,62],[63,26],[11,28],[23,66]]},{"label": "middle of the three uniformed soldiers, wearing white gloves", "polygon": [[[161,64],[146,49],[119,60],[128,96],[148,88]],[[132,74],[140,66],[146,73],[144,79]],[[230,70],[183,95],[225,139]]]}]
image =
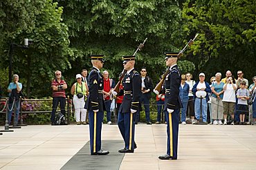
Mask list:
[{"label": "middle of the three uniformed soldiers, wearing white gloves", "polygon": [[125,148],[118,150],[120,153],[133,153],[136,149],[134,142],[135,115],[139,109],[141,94],[141,77],[134,70],[135,56],[123,56],[123,65],[127,73],[122,79],[124,98],[119,108],[118,127],[122,138],[125,140]]}]

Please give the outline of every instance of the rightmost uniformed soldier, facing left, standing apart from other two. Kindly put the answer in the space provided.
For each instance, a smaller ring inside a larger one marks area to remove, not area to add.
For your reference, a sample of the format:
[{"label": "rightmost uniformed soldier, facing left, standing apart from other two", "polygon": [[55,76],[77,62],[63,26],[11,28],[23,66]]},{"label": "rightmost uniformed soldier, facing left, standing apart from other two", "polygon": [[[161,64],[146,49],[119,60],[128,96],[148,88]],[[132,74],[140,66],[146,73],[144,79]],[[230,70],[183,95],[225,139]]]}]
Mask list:
[{"label": "rightmost uniformed soldier, facing left, standing apart from other two", "polygon": [[165,108],[167,111],[167,153],[158,158],[161,160],[176,160],[178,148],[179,113],[182,106],[179,98],[181,73],[176,64],[179,53],[165,52],[166,66],[170,73],[165,78]]}]

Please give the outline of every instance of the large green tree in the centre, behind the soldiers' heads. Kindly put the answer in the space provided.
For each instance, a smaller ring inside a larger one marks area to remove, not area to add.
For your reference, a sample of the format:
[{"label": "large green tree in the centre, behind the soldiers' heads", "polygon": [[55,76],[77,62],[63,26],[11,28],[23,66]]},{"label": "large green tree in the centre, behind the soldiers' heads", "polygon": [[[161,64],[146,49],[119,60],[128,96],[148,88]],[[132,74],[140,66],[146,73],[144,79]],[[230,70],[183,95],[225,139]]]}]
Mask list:
[{"label": "large green tree in the centre, behind the soldiers' heads", "polygon": [[181,8],[177,1],[59,1],[64,7],[63,19],[68,26],[75,61],[65,73],[74,77],[82,68],[89,69],[89,55],[104,54],[104,68],[118,77],[122,70],[122,55],[132,55],[147,37],[142,51],[137,53],[136,69],[146,66],[149,76],[158,81],[165,70],[165,51],[179,51],[181,45]]}]

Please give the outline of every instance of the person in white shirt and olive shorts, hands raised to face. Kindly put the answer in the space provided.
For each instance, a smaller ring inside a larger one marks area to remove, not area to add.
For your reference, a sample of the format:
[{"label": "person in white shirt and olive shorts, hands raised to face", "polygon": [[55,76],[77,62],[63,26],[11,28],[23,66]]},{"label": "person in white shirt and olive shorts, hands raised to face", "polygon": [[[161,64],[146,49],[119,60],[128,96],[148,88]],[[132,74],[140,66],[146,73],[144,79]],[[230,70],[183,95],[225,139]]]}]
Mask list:
[{"label": "person in white shirt and olive shorts, hands raised to face", "polygon": [[223,115],[224,115],[224,125],[227,124],[228,114],[232,117],[231,125],[234,125],[234,111],[235,111],[235,91],[237,90],[237,84],[235,84],[235,79],[233,77],[228,77],[226,84],[223,86]]}]

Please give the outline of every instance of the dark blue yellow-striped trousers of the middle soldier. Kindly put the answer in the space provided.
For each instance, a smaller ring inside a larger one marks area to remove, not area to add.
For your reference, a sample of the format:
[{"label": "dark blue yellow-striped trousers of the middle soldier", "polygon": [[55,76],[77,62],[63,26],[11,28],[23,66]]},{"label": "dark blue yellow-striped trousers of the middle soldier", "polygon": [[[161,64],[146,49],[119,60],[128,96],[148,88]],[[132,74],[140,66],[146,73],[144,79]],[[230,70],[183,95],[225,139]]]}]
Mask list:
[{"label": "dark blue yellow-striped trousers of the middle soldier", "polygon": [[135,113],[119,113],[118,127],[125,140],[125,149],[134,149]]}]

